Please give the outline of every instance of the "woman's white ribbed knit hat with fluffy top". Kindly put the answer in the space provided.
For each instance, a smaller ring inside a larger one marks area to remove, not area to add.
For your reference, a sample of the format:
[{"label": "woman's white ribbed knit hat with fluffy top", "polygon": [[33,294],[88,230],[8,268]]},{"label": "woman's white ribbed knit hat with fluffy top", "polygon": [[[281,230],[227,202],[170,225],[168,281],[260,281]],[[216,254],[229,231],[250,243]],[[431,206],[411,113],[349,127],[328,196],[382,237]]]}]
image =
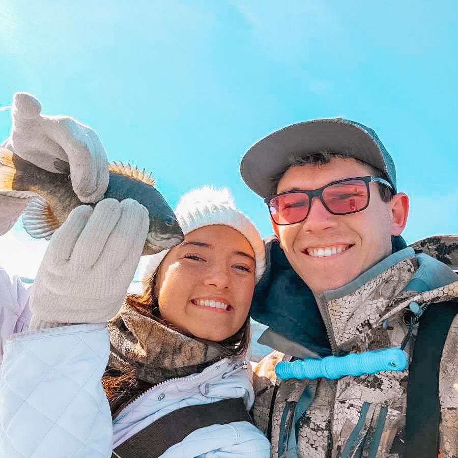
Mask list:
[{"label": "woman's white ribbed knit hat with fluffy top", "polygon": [[[233,227],[250,243],[254,251],[256,283],[266,269],[266,252],[259,231],[251,220],[235,208],[234,198],[227,188],[214,189],[210,186],[193,189],[184,194],[175,210],[177,220],[188,234],[199,227],[222,224]],[[145,280],[159,266],[169,250],[142,256],[139,264],[139,277]]]}]

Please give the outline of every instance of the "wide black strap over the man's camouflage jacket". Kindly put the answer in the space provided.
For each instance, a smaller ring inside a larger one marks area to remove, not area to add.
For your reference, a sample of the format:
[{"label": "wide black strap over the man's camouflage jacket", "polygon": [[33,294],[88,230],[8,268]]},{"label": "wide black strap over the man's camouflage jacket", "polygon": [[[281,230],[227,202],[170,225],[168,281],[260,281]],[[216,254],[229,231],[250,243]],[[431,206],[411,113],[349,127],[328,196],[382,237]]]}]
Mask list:
[{"label": "wide black strap over the man's camouflage jacket", "polygon": [[432,458],[439,450],[439,366],[458,302],[431,304],[422,314],[409,368],[406,412],[407,458]]}]

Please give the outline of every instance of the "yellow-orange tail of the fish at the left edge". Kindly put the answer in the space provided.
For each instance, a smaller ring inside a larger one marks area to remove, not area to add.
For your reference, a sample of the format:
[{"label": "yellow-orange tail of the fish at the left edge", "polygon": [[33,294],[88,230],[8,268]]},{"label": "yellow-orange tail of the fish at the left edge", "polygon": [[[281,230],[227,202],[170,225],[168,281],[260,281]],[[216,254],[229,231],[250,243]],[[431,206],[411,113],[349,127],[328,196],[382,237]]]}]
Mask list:
[{"label": "yellow-orange tail of the fish at the left edge", "polygon": [[36,170],[40,168],[0,147],[0,191],[30,190],[30,178]]}]

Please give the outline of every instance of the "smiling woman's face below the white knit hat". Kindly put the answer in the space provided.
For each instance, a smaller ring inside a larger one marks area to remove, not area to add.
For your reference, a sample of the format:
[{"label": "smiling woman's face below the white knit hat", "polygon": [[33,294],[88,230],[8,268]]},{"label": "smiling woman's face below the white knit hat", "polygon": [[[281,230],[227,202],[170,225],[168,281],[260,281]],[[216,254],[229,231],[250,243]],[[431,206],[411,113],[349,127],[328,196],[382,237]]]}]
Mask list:
[{"label": "smiling woman's face below the white knit hat", "polygon": [[225,225],[199,227],[156,271],[158,312],[186,334],[224,340],[249,326],[254,269],[253,248],[240,232]]}]

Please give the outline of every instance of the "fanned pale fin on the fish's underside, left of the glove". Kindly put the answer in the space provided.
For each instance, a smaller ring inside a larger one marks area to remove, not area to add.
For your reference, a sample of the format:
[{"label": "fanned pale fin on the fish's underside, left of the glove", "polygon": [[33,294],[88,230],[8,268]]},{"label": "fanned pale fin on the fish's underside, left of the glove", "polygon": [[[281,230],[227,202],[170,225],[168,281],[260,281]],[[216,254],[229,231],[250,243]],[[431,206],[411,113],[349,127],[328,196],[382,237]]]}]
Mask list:
[{"label": "fanned pale fin on the fish's underside, left of the glove", "polygon": [[35,239],[49,240],[60,226],[49,204],[40,196],[30,199],[22,214],[22,222],[27,234]]}]

